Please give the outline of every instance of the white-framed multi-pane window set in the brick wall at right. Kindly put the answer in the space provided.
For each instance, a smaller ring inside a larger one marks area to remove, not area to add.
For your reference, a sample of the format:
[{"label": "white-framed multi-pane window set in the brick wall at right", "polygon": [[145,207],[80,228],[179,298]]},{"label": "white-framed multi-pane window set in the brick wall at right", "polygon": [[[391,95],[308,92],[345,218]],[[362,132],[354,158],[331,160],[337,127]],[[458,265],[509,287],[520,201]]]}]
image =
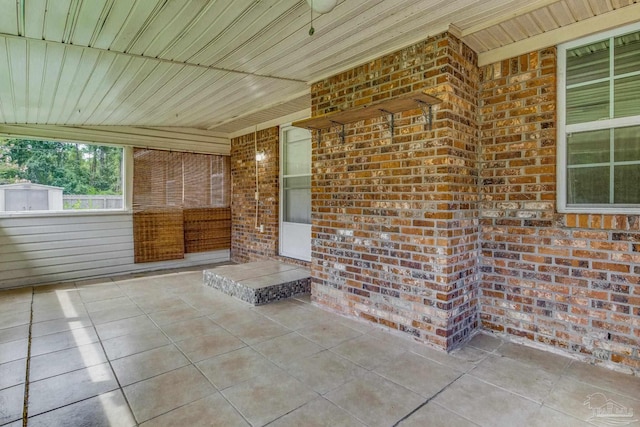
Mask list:
[{"label": "white-framed multi-pane window set in the brick wall at right", "polygon": [[640,211],[640,25],[558,47],[558,209]]}]

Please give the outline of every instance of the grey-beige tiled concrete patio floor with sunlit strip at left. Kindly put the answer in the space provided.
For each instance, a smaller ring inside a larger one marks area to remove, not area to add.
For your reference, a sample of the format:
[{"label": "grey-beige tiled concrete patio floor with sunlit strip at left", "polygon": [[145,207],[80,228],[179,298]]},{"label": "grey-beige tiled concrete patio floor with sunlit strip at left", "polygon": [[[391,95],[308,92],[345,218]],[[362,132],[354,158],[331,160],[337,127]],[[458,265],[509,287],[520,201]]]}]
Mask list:
[{"label": "grey-beige tiled concrete patio floor with sunlit strip at left", "polygon": [[639,419],[640,378],[486,335],[446,355],[201,272],[0,292],[11,427],[585,426],[614,420],[593,417],[607,400]]}]

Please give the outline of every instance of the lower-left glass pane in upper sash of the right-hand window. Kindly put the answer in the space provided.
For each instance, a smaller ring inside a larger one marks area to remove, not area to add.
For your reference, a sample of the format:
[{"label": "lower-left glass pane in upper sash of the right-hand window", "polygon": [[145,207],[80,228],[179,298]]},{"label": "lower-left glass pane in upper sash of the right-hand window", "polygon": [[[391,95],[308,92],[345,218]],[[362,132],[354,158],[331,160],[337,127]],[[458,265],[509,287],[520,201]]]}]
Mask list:
[{"label": "lower-left glass pane in upper sash of the right-hand window", "polygon": [[567,124],[609,118],[609,82],[567,90]]}]

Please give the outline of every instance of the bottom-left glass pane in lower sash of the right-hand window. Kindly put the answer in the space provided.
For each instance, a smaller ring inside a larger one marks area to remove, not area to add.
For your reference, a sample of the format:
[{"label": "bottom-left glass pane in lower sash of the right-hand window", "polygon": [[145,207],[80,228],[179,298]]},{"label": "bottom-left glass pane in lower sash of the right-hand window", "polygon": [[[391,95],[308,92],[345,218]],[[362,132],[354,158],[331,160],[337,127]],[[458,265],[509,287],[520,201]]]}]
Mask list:
[{"label": "bottom-left glass pane in lower sash of the right-hand window", "polygon": [[568,169],[567,203],[609,203],[609,167]]}]

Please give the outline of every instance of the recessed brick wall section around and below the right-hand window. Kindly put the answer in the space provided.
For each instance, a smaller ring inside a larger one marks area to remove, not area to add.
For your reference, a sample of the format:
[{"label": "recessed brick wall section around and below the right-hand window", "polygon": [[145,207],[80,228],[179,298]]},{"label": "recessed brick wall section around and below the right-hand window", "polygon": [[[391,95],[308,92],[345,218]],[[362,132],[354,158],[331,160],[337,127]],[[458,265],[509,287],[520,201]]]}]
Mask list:
[{"label": "recessed brick wall section around and below the right-hand window", "polygon": [[481,69],[485,328],[640,372],[640,217],[556,213],[556,52]]}]

